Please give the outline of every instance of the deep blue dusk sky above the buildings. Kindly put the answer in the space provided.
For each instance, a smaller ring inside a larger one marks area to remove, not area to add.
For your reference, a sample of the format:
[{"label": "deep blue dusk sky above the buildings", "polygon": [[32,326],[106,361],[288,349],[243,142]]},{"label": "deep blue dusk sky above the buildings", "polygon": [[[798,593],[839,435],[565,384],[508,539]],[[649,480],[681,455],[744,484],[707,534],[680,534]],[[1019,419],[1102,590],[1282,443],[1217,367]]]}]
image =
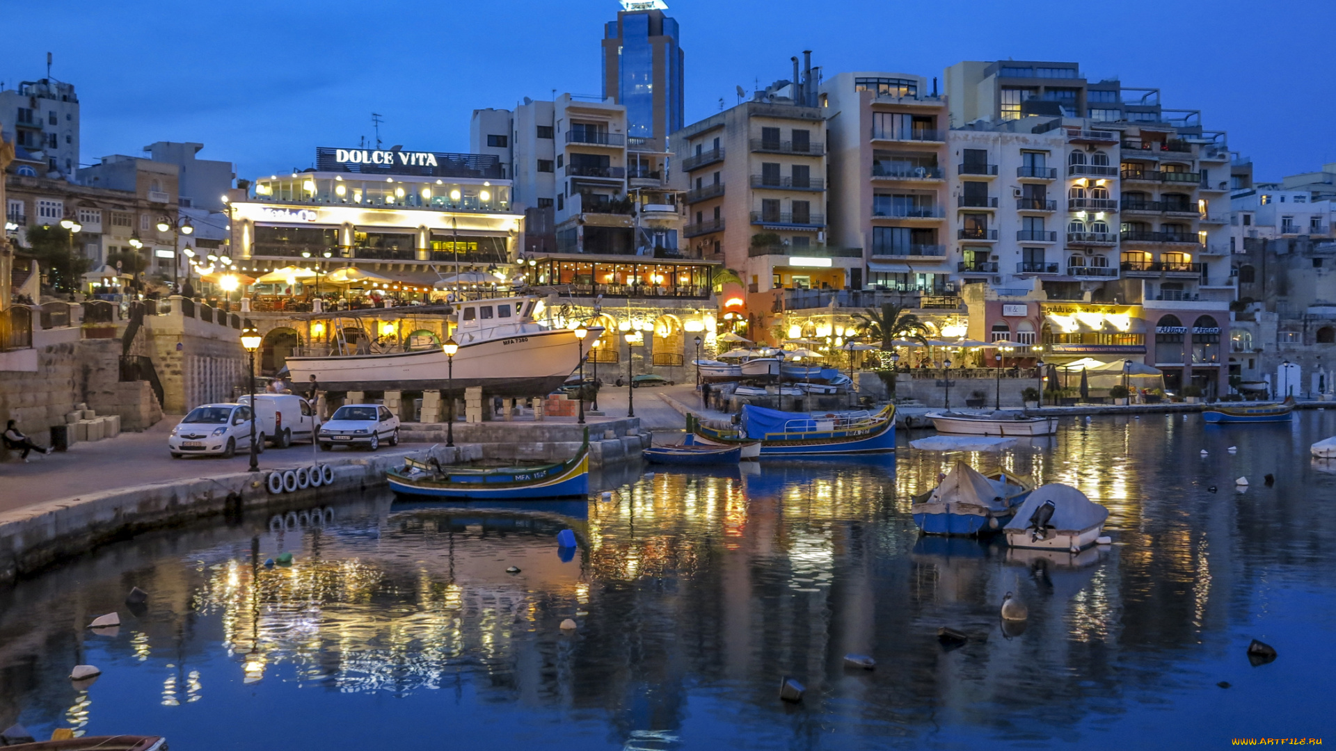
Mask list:
[{"label": "deep blue dusk sky above the buildings", "polygon": [[[1252,156],[1259,179],[1336,162],[1332,0],[1116,4],[668,0],[687,55],[687,122],[764,87],[814,51],[826,75],[942,76],[959,60],[1073,60],[1093,79],[1158,87]],[[28,31],[0,45],[9,88],[77,87],[84,163],[155,140],[206,144],[239,178],[311,166],[385,118],[386,146],[465,151],[474,108],[599,94],[615,0],[442,3],[0,0]]]}]

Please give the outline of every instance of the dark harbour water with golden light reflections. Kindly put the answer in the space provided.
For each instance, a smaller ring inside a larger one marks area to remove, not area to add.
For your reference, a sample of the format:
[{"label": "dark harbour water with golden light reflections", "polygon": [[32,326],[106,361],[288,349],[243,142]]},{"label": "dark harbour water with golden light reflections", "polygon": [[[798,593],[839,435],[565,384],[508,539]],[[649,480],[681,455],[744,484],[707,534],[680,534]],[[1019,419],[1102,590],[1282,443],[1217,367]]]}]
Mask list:
[{"label": "dark harbour water with golden light reflections", "polygon": [[[146,535],[0,592],[0,727],[174,751],[1336,743],[1336,462],[1308,456],[1333,433],[1336,410],[1067,420],[1002,454],[636,468],[601,478],[612,502],[533,513],[345,497],[287,531]],[[1114,545],[919,539],[910,497],[955,456],[1078,486]],[[999,624],[1007,591],[1023,629]],[[110,611],[118,633],[83,628]],[[946,651],[939,625],[971,639]],[[1249,664],[1253,637],[1280,657]],[[77,663],[103,676],[71,686]],[[779,702],[784,675],[802,704]]]}]

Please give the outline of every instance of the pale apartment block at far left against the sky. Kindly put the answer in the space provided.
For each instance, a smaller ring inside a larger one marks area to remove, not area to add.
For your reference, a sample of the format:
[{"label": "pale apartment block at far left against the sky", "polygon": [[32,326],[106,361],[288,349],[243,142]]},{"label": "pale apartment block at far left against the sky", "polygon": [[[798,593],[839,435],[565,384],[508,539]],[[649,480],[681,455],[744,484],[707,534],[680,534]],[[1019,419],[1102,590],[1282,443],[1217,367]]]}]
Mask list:
[{"label": "pale apartment block at far left against the sky", "polygon": [[0,90],[0,132],[15,147],[15,170],[29,178],[73,179],[79,168],[79,96],[51,78]]}]

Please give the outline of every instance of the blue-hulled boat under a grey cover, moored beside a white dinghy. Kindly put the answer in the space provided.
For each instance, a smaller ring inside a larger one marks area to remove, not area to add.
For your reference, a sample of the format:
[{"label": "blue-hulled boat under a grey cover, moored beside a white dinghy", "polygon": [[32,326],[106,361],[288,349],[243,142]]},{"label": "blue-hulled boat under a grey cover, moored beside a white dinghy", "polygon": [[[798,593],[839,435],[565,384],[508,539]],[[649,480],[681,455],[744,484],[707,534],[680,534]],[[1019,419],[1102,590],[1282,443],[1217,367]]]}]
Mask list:
[{"label": "blue-hulled boat under a grey cover, moored beside a white dinghy", "polygon": [[1031,489],[1006,472],[985,476],[957,461],[941,485],[914,498],[910,513],[926,535],[991,535],[1011,521]]}]

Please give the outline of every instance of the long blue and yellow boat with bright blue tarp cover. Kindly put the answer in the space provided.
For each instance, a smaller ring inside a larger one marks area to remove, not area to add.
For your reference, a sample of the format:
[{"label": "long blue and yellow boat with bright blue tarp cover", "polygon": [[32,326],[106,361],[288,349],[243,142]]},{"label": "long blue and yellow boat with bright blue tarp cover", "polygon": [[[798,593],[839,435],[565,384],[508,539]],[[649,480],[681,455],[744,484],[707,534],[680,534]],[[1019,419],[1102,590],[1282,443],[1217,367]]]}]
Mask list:
[{"label": "long blue and yellow boat with bright blue tarp cover", "polygon": [[697,444],[732,446],[760,441],[763,458],[886,453],[895,450],[895,406],[875,413],[822,416],[743,405],[737,429],[707,428],[692,418],[688,429]]}]

